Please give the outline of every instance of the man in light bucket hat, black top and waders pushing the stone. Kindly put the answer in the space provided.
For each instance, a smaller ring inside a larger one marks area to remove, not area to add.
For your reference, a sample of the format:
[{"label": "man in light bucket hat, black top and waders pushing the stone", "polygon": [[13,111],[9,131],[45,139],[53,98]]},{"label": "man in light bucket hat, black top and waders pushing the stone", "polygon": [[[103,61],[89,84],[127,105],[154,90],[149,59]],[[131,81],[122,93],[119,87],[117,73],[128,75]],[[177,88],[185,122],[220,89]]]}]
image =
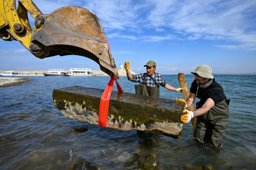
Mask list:
[{"label": "man in light bucket hat, black top and waders pushing the stone", "polygon": [[184,102],[185,107],[191,106],[196,97],[200,101],[196,103],[196,110],[183,110],[186,114],[181,116],[181,121],[188,123],[191,118],[197,116],[194,132],[196,140],[221,149],[221,140],[229,119],[230,100],[226,99],[223,88],[213,78],[211,67],[200,65],[191,73],[195,75],[195,80],[191,84],[190,95]]}]

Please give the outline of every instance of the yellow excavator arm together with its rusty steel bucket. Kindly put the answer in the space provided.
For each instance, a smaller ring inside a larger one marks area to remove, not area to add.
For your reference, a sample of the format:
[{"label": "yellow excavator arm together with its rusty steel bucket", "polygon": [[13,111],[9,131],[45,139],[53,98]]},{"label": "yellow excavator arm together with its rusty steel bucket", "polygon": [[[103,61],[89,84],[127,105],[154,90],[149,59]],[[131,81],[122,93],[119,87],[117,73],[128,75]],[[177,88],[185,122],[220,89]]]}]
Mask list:
[{"label": "yellow excavator arm together with its rusty steel bucket", "polygon": [[[34,18],[33,29],[28,12]],[[100,69],[119,78],[104,29],[88,9],[66,6],[42,14],[32,0],[0,0],[0,38],[16,40],[35,57],[79,55],[94,60]]]}]

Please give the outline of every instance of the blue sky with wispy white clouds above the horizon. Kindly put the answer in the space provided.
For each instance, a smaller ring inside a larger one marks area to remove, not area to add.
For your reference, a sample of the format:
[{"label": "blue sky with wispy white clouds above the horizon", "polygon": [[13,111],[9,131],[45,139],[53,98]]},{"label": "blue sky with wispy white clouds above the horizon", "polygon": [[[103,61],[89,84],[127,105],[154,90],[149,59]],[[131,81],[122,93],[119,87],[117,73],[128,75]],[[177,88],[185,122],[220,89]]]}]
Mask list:
[{"label": "blue sky with wispy white clouds above the horizon", "polygon": [[[33,0],[43,14],[74,5],[101,21],[119,69],[144,73],[149,60],[157,73],[188,74],[198,65],[213,73],[256,73],[255,0]],[[16,2],[17,3],[17,2]],[[30,16],[33,25],[33,18]],[[48,70],[99,65],[81,56],[34,57],[17,41],[0,40],[0,70]]]}]

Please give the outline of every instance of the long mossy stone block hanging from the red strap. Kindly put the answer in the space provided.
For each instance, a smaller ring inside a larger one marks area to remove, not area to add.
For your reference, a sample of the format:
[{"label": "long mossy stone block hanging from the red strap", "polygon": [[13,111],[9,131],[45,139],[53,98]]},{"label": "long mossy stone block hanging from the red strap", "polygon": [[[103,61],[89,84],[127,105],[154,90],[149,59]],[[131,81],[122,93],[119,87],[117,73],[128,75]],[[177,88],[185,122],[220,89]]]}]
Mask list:
[{"label": "long mossy stone block hanging from the red strap", "polygon": [[[98,125],[100,98],[104,90],[80,86],[53,90],[54,107],[65,117]],[[112,92],[107,127],[140,130],[181,138],[183,103],[132,93]]]}]

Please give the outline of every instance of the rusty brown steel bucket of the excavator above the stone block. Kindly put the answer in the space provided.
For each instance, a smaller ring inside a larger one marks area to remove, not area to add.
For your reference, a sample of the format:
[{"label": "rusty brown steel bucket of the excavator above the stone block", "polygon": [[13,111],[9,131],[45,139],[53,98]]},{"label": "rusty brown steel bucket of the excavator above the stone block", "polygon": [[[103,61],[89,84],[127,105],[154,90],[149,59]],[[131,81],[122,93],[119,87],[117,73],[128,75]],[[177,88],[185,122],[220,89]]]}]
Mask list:
[{"label": "rusty brown steel bucket of the excavator above the stone block", "polygon": [[98,63],[103,72],[108,75],[113,73],[119,78],[99,19],[82,7],[66,6],[56,9],[50,15],[38,15],[30,51],[41,59],[56,55],[84,56]]}]

